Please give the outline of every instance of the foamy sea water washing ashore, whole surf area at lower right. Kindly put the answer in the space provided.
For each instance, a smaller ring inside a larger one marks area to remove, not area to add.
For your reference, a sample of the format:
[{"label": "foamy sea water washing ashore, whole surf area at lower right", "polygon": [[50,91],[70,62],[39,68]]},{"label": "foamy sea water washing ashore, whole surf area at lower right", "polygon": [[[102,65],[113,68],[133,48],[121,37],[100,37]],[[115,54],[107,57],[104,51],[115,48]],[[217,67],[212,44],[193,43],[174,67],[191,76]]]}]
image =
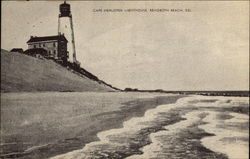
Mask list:
[{"label": "foamy sea water washing ashore, whole surf area at lower right", "polygon": [[249,98],[188,96],[51,159],[247,159]]}]

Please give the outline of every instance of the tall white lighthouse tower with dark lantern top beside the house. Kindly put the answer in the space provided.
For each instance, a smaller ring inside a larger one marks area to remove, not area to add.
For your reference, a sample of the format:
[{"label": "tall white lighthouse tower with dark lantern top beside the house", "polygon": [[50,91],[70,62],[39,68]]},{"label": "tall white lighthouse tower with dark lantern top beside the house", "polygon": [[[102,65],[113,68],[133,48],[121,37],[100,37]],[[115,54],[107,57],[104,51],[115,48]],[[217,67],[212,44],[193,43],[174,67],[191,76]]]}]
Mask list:
[{"label": "tall white lighthouse tower with dark lantern top beside the house", "polygon": [[60,4],[60,14],[58,17],[58,35],[64,35],[68,40],[68,60],[74,64],[80,65],[76,60],[76,48],[74,38],[73,19],[70,11],[70,5],[64,1]]}]

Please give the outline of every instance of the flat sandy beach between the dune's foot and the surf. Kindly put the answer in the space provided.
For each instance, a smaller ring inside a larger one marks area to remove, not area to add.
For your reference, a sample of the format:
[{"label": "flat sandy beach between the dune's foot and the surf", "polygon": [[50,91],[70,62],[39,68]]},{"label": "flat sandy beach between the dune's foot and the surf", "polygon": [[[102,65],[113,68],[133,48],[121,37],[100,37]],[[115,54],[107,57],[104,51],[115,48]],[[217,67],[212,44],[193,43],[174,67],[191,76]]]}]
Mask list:
[{"label": "flat sandy beach between the dune's foot and the surf", "polygon": [[[99,140],[146,110],[183,95],[160,93],[44,92],[1,95],[1,156],[48,158]],[[57,103],[57,104],[55,104]]]}]

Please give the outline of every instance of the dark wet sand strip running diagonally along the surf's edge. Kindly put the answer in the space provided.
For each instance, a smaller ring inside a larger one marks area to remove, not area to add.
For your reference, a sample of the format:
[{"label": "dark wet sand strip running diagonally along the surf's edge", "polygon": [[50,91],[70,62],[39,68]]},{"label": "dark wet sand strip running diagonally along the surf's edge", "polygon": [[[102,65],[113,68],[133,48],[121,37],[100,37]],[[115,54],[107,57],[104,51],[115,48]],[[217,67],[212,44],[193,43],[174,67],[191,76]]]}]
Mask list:
[{"label": "dark wet sand strip running diagonally along the surf's edge", "polygon": [[[97,133],[114,128],[121,128],[124,121],[133,117],[141,117],[148,109],[152,109],[162,104],[175,103],[178,99],[185,97],[184,95],[157,95],[153,98],[138,98],[122,103],[120,110],[103,112],[94,115],[95,120],[101,125],[95,125],[95,122],[85,130],[83,134],[79,134],[74,138],[66,138],[55,143],[41,146],[32,151],[21,153],[12,153],[4,155],[9,158],[31,159],[31,158],[49,158],[60,154],[64,154],[73,150],[83,148],[87,143],[98,141]],[[2,157],[2,156],[1,156]]]}]

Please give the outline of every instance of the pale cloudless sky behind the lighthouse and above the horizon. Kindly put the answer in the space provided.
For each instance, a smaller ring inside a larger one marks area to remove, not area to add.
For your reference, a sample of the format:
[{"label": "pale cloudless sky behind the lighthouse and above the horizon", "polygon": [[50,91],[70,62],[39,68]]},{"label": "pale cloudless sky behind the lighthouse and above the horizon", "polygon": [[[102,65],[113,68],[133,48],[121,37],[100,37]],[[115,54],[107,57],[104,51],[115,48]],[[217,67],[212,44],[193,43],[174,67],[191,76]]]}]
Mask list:
[{"label": "pale cloudless sky behind the lighthouse and above the horizon", "polygon": [[[3,1],[1,48],[27,49],[31,35],[56,35],[61,3]],[[249,89],[248,1],[68,3],[77,60],[83,68],[115,87]],[[148,11],[104,12],[104,9]],[[150,12],[150,9],[183,11]]]}]

